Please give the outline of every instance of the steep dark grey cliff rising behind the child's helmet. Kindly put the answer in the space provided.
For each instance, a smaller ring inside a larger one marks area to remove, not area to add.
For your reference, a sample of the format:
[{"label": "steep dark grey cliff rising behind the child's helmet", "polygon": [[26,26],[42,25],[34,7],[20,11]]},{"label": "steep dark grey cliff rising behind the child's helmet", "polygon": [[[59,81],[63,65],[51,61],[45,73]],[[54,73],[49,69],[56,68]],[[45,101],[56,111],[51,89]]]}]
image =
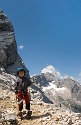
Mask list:
[{"label": "steep dark grey cliff rising behind the child's helmet", "polygon": [[[3,65],[7,72],[15,73],[18,67],[26,67],[17,53],[13,26],[8,17],[0,10],[0,65]],[[28,70],[27,75],[29,75]]]}]

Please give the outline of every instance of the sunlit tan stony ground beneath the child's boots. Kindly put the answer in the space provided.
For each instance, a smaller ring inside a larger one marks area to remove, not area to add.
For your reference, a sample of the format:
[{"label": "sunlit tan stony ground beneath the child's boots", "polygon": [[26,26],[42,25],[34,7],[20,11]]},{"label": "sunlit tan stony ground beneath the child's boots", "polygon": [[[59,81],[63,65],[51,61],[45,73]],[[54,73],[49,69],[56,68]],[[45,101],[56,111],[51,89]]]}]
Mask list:
[{"label": "sunlit tan stony ground beneath the child's boots", "polygon": [[18,107],[13,92],[0,89],[0,125],[81,125],[81,114],[64,107],[32,99],[31,120],[26,119],[25,105],[23,119],[17,116]]}]

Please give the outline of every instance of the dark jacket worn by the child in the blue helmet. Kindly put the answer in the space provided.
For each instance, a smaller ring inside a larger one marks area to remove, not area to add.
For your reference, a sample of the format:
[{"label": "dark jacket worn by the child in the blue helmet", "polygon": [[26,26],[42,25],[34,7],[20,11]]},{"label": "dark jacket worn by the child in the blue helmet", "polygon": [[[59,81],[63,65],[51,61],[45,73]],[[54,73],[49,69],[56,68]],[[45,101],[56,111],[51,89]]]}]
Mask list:
[{"label": "dark jacket worn by the child in the blue helmet", "polygon": [[27,77],[18,77],[14,85],[15,94],[18,93],[18,90],[25,91],[28,90],[28,87],[31,85],[31,81]]}]

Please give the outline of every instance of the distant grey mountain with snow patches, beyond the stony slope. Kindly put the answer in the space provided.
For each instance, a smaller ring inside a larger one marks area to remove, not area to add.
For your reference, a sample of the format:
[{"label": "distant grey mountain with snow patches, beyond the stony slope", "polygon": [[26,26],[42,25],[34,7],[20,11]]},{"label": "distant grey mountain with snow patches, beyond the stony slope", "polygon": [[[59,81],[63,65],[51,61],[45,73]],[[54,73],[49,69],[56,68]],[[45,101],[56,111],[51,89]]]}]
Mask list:
[{"label": "distant grey mountain with snow patches, beyond the stony slope", "polygon": [[69,77],[59,80],[49,72],[35,75],[32,80],[52,103],[81,112],[81,85],[77,81]]}]

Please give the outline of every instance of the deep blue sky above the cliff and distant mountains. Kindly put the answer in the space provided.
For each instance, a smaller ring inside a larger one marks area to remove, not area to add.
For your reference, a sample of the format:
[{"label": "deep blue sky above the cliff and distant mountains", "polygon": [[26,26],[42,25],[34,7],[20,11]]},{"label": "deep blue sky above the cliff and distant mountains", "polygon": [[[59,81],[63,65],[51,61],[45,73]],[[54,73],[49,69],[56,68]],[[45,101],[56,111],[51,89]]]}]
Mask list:
[{"label": "deep blue sky above the cliff and distant mountains", "polygon": [[81,79],[81,0],[0,0],[30,75],[49,66]]}]

